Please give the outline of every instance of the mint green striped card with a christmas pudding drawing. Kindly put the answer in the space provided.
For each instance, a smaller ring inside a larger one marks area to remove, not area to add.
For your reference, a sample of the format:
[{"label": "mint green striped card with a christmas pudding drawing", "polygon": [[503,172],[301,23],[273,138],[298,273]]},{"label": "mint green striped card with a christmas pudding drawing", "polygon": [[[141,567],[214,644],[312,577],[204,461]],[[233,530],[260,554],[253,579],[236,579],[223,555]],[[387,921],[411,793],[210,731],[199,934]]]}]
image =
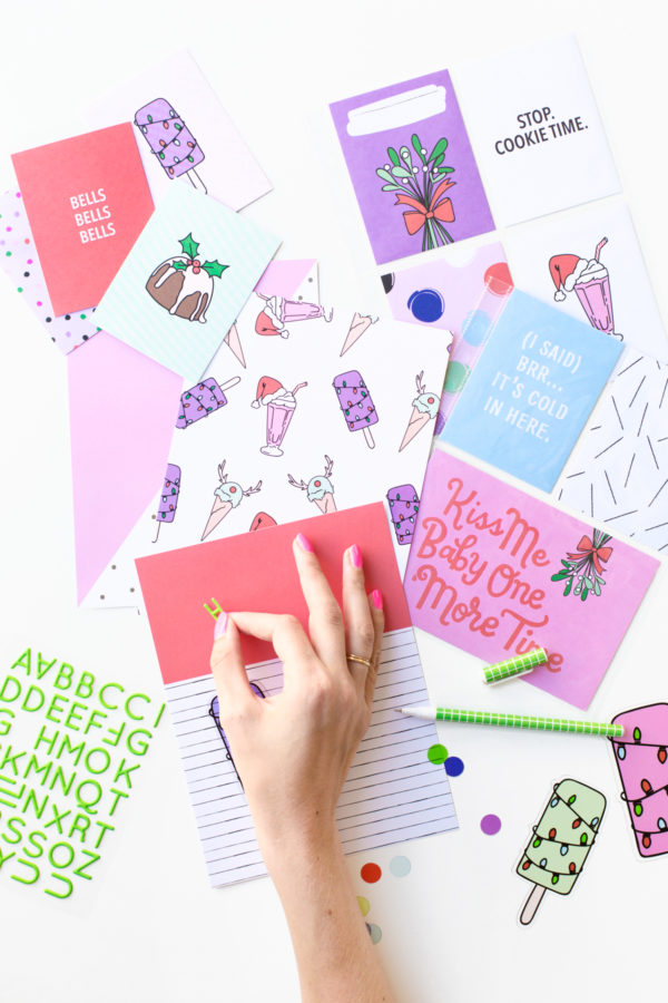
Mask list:
[{"label": "mint green striped card with a christmas pudding drawing", "polygon": [[173,185],[102,296],[96,324],[196,383],[279,243],[216,199]]}]

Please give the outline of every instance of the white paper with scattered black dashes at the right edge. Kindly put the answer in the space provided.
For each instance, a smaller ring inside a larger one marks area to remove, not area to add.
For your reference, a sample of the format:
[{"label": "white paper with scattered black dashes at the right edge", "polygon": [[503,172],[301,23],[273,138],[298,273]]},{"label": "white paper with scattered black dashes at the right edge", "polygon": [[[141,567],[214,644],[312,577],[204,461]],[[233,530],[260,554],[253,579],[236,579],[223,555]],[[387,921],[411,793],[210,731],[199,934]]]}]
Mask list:
[{"label": "white paper with scattered black dashes at the right edge", "polygon": [[559,501],[668,551],[668,364],[627,352],[559,480]]}]

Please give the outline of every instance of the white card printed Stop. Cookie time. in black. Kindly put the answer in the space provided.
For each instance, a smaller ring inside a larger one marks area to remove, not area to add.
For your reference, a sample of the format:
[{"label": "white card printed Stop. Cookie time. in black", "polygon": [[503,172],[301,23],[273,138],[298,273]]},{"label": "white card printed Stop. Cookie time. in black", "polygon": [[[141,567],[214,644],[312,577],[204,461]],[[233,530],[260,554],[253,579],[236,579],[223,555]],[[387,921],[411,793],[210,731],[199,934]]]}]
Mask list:
[{"label": "white card printed Stop. Cookie time. in black", "polygon": [[619,191],[573,36],[499,52],[452,76],[497,226]]}]

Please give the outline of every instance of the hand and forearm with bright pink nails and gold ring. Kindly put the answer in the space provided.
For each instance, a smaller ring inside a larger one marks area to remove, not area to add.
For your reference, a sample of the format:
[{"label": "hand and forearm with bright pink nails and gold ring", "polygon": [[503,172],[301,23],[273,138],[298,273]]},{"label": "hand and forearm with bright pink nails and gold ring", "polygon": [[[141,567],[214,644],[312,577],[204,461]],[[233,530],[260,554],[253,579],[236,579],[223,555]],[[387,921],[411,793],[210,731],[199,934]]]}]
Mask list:
[{"label": "hand and forearm with bright pink nails and gold ring", "polygon": [[[377,591],[366,595],[357,546],[343,555],[343,612],[305,536],[297,536],[293,551],[308,636],[294,616],[220,613],[212,654],[220,723],[283,902],[303,1003],[390,1003],[334,819],[371,718],[383,601]],[[274,645],[283,662],[278,695],[253,693],[239,631]]]}]

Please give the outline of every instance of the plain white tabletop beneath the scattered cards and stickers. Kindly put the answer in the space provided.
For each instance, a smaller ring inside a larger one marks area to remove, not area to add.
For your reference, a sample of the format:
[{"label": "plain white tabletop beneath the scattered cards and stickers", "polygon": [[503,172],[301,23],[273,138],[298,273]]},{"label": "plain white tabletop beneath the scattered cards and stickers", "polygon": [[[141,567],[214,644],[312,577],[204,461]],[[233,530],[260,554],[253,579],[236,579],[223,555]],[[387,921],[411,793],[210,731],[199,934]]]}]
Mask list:
[{"label": "plain white tabletop beneath the scattered cards and stickers", "polygon": [[[630,203],[664,319],[668,315],[664,125],[665,33],[658,2],[441,0],[326,8],[163,2],[144,7],[2,3],[0,178],[9,154],[82,130],[81,109],[146,61],[187,45],[258,155],[273,195],[250,215],[284,235],[286,256],[321,260],[325,302],[355,283],[304,116],[318,104],[576,30]],[[19,12],[20,11],[20,12]],[[100,676],[158,693],[145,623],[75,604],[63,360],[3,279],[2,652],[31,643]],[[664,569],[665,572],[665,569]],[[659,575],[591,705],[591,717],[666,700],[668,584]],[[479,662],[420,635],[434,701],[482,705]],[[494,694],[510,710],[566,712],[513,684]],[[488,704],[490,698],[488,695]],[[491,704],[490,704],[491,705]],[[377,947],[400,1000],[557,1001],[660,995],[668,857],[640,860],[603,741],[443,730],[462,757],[453,780],[461,828],[403,851],[412,873],[393,878],[392,850],[375,855],[377,885],[356,877],[383,931]],[[163,730],[124,817],[115,853],[76,908],[0,882],[0,999],[53,1001],[259,1001],[298,999],[288,936],[266,880],[213,893],[200,857],[175,740]],[[601,835],[571,896],[546,895],[532,926],[517,916],[530,886],[514,866],[553,781],[573,776],[608,796]],[[498,814],[501,832],[480,818]],[[352,858],[358,871],[364,858]],[[298,861],[297,861],[298,866]]]}]

